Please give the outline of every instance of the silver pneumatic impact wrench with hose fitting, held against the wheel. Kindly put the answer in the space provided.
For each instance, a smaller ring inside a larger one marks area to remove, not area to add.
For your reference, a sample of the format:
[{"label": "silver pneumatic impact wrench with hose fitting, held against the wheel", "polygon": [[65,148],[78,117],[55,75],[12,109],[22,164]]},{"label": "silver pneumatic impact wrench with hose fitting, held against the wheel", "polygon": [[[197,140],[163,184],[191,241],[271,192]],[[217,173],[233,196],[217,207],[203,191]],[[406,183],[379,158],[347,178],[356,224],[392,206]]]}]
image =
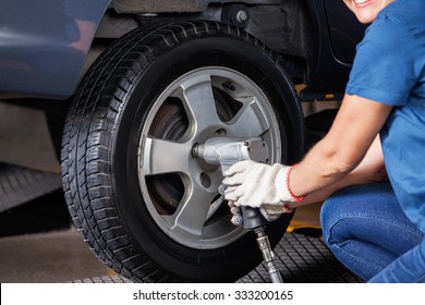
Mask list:
[{"label": "silver pneumatic impact wrench with hose fitting, held against the wheel", "polygon": [[[204,159],[209,164],[220,166],[222,173],[239,161],[253,160],[265,163],[269,161],[267,145],[259,137],[248,139],[234,137],[209,138],[206,143],[194,147],[193,156]],[[221,194],[223,193],[223,190],[219,191]],[[265,232],[266,220],[257,208],[242,207],[241,212],[243,228],[248,231],[254,231],[257,234],[257,243],[270,274],[271,282],[281,283],[281,274],[274,264],[275,254]]]}]

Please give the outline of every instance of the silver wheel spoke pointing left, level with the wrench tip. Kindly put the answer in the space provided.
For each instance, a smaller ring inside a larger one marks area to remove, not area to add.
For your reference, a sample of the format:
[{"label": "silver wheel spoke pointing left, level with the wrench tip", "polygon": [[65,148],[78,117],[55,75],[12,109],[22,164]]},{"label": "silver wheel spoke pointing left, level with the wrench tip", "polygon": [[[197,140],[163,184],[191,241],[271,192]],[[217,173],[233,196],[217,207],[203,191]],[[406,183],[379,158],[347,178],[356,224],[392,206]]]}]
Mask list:
[{"label": "silver wheel spoke pointing left, level with the wrench tip", "polygon": [[144,175],[177,172],[190,174],[189,144],[148,137],[144,151],[145,155],[141,158],[143,160],[141,170]]}]

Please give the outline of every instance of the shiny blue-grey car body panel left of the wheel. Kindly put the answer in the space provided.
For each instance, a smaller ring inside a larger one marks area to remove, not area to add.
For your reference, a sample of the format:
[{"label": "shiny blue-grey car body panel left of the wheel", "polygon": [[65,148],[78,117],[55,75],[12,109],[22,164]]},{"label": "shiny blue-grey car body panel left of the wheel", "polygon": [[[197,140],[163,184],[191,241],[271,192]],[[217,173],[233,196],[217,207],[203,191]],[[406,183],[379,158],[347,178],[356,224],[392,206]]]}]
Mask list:
[{"label": "shiny blue-grey car body panel left of the wheel", "polygon": [[69,98],[111,0],[0,0],[2,95]]}]

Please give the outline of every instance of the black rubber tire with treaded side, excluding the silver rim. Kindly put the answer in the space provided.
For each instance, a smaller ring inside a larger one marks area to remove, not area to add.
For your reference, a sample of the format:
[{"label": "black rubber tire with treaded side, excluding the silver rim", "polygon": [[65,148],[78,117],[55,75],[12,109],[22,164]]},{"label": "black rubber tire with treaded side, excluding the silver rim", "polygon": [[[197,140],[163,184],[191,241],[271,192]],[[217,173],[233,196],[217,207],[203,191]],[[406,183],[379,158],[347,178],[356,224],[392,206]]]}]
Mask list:
[{"label": "black rubber tire with treaded side, excluding the silver rim", "polygon": [[[246,33],[201,21],[135,29],[98,58],[70,109],[61,159],[72,219],[100,259],[142,282],[230,282],[262,261],[252,233],[211,249],[191,248],[165,234],[144,205],[136,155],[157,95],[187,71],[222,65],[247,74],[267,94],[286,134],[282,159],[296,161],[304,152],[303,113],[276,62]],[[272,245],[291,217],[268,225]]]}]

